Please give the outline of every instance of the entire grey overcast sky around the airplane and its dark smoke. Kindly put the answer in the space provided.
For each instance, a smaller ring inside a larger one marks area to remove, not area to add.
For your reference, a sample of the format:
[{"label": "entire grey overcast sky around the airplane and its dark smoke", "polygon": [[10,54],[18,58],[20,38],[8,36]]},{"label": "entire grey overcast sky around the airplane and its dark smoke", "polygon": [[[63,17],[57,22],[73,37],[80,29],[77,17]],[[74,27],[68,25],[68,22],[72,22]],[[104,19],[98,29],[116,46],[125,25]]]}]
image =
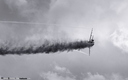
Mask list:
[{"label": "entire grey overcast sky around the airplane and its dark smoke", "polygon": [[[0,0],[0,46],[88,40],[78,51],[0,56],[0,76],[31,80],[128,80],[127,0]],[[7,22],[2,22],[7,21]],[[21,24],[11,22],[46,24]],[[55,25],[52,25],[55,24]]]}]

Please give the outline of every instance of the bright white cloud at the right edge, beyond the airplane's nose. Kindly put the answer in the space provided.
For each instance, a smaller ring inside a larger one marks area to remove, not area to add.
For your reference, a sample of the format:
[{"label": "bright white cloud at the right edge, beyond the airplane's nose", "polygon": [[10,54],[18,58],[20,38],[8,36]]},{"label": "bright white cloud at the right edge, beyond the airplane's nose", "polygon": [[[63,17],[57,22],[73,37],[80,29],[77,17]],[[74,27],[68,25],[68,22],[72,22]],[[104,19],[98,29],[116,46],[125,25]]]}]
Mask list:
[{"label": "bright white cloud at the right edge, beyond the airplane's nose", "polygon": [[128,29],[126,27],[119,27],[111,35],[112,43],[121,50],[128,52]]}]

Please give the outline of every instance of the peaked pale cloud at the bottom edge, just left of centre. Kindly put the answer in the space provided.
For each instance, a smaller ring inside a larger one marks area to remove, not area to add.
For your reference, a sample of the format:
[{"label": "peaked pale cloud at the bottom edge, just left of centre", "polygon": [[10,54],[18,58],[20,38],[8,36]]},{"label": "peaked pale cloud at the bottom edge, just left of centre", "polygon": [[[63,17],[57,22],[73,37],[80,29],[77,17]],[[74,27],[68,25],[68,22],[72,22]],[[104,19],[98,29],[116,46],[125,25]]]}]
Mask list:
[{"label": "peaked pale cloud at the bottom edge, just left of centre", "polygon": [[53,71],[43,72],[40,74],[46,80],[76,80],[75,76],[65,67],[55,64]]}]

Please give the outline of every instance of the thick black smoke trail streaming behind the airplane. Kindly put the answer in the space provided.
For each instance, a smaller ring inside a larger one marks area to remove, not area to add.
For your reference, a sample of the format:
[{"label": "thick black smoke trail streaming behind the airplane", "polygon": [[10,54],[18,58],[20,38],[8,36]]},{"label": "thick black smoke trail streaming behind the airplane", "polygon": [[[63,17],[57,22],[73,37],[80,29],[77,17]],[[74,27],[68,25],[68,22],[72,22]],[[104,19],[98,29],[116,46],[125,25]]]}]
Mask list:
[{"label": "thick black smoke trail streaming behind the airplane", "polygon": [[55,52],[63,52],[63,51],[71,51],[71,50],[80,50],[83,48],[87,48],[87,41],[74,41],[74,42],[55,42],[49,43],[45,42],[41,46],[34,47],[30,45],[28,48],[26,47],[16,47],[10,49],[9,46],[0,47],[0,55],[7,54],[37,54],[37,53],[55,53]]}]

